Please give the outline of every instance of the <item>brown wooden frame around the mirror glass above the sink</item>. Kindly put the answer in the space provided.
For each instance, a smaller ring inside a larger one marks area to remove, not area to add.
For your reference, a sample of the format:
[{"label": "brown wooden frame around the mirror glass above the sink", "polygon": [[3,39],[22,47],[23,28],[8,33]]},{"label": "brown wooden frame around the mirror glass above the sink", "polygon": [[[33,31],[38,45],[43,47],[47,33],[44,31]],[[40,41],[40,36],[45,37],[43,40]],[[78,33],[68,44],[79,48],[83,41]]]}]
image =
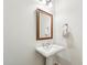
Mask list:
[{"label": "brown wooden frame around the mirror glass above the sink", "polygon": [[[50,37],[40,37],[40,13],[44,13],[51,17],[51,36]],[[41,9],[36,9],[36,40],[48,40],[53,39],[53,15],[48,12],[45,12]]]}]

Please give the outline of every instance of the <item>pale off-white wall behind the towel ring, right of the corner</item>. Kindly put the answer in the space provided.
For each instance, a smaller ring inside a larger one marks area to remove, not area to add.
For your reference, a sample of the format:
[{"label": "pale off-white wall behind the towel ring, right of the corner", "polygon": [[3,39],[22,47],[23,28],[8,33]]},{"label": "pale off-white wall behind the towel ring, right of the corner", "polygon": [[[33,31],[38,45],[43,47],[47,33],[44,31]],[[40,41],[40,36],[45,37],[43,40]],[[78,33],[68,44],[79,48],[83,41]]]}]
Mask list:
[{"label": "pale off-white wall behind the towel ring, right of the corner", "polygon": [[[62,65],[83,65],[83,13],[81,0],[55,0],[54,1],[54,43],[66,46],[66,50],[57,54]],[[63,37],[63,24],[69,24],[70,35]]]}]

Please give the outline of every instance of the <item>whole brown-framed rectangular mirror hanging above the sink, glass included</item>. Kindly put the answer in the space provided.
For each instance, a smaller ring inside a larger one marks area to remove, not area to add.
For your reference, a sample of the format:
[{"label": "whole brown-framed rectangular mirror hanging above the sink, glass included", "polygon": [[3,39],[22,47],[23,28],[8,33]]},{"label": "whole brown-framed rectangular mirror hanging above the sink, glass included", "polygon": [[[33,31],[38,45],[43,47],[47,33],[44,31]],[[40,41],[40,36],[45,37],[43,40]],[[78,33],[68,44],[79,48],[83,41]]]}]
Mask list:
[{"label": "whole brown-framed rectangular mirror hanging above the sink, glass included", "polygon": [[41,9],[36,10],[36,40],[53,39],[53,15]]}]

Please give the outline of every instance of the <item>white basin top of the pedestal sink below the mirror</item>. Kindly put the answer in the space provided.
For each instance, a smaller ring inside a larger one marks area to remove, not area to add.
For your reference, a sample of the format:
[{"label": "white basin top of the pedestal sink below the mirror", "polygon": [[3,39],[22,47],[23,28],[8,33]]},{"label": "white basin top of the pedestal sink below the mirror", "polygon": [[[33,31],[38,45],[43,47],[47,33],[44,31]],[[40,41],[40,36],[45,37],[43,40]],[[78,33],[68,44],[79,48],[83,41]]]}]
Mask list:
[{"label": "white basin top of the pedestal sink below the mirror", "polygon": [[53,44],[51,47],[43,47],[43,46],[37,46],[36,47],[36,51],[40,53],[40,54],[42,54],[43,56],[45,56],[45,57],[48,57],[48,56],[52,56],[52,55],[54,55],[54,54],[56,54],[56,53],[58,53],[58,52],[61,52],[62,50],[64,50],[64,47],[63,46],[59,46],[59,45],[55,45],[55,44]]}]

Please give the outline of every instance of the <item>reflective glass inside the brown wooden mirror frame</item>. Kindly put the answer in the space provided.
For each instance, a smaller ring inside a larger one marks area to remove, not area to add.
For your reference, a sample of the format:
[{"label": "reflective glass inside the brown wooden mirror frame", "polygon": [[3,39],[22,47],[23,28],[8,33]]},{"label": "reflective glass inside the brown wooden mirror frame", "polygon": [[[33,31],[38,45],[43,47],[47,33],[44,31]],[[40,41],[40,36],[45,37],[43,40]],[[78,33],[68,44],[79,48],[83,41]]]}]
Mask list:
[{"label": "reflective glass inside the brown wooden mirror frame", "polygon": [[40,13],[40,37],[51,36],[51,18]]}]

